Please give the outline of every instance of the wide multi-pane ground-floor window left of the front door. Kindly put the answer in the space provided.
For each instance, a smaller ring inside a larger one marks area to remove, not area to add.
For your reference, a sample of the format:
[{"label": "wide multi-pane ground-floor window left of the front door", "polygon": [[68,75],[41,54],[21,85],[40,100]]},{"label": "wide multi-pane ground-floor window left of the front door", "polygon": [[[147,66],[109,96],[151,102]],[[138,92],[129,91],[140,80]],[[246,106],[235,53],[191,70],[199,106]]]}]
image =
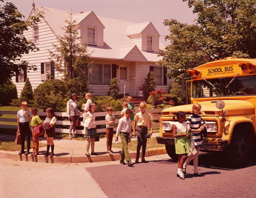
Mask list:
[{"label": "wide multi-pane ground-floor window left of the front door", "polygon": [[90,84],[108,85],[111,79],[111,65],[95,63],[89,68]]}]

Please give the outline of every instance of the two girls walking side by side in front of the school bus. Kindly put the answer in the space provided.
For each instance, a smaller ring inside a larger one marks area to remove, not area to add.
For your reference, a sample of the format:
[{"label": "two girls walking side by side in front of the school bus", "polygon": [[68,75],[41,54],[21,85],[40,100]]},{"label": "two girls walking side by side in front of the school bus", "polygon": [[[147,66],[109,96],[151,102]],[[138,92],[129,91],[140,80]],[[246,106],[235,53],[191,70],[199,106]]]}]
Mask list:
[{"label": "two girls walking side by side in front of the school bus", "polygon": [[[198,173],[198,155],[202,147],[201,131],[204,130],[205,124],[198,114],[201,105],[196,103],[192,107],[192,114],[186,120],[186,114],[178,111],[176,117],[178,122],[173,128],[173,136],[175,137],[175,150],[178,154],[177,177],[184,180],[186,168],[189,162],[193,160],[194,176],[201,177]],[[175,119],[175,116],[174,116]]]}]

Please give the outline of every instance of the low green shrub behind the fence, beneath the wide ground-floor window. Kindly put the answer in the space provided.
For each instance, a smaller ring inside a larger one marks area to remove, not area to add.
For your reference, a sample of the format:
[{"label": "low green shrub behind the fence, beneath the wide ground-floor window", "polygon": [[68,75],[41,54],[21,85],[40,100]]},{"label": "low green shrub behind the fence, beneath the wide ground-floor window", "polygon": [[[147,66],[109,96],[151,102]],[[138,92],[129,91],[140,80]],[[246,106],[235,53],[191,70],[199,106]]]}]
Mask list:
[{"label": "low green shrub behind the fence, beneath the wide ground-floor window", "polygon": [[97,105],[97,112],[104,112],[107,107],[112,107],[114,111],[122,110],[122,102],[111,96],[94,96],[93,102]]}]

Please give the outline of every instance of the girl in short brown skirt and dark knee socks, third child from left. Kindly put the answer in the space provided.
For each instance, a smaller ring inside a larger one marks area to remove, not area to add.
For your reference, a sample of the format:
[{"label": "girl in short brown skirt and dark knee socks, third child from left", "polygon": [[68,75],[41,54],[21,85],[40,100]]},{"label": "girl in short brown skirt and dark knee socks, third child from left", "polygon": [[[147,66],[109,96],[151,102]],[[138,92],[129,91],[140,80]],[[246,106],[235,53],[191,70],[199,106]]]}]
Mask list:
[{"label": "girl in short brown skirt and dark knee socks, third child from left", "polygon": [[43,123],[43,128],[45,129],[44,137],[47,141],[47,151],[45,153],[46,156],[49,156],[49,150],[51,146],[52,153],[50,157],[54,156],[54,143],[53,139],[55,138],[55,123],[57,119],[55,117],[55,113],[53,108],[46,108],[46,118]]}]

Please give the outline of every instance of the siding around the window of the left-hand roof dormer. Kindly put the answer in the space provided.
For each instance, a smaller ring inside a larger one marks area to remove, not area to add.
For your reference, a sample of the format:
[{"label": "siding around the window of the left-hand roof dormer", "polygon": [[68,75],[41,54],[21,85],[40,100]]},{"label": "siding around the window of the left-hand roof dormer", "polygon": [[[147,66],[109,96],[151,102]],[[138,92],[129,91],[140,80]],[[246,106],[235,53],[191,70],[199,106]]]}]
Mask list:
[{"label": "siding around the window of the left-hand roof dormer", "polygon": [[95,28],[95,34],[96,34],[96,45],[98,47],[103,47],[103,26],[98,20],[98,18],[93,14],[89,14],[85,19],[83,19],[80,22],[80,36],[81,36],[81,43],[87,43],[88,37],[87,37],[87,31],[88,27],[94,27]]}]

